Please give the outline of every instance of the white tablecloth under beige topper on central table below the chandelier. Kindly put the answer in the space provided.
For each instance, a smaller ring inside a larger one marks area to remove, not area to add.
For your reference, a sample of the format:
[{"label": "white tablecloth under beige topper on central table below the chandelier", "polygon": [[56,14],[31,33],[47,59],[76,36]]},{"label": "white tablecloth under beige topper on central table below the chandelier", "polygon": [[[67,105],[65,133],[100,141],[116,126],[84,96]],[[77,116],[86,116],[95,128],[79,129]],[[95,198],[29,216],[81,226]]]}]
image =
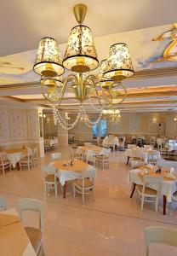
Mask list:
[{"label": "white tablecloth under beige topper on central table below the chandelier", "polygon": [[[54,162],[49,163],[49,165],[54,165]],[[88,167],[85,171],[88,172],[89,177],[94,177],[95,176],[96,171],[95,171],[94,166],[89,166],[88,165]],[[59,178],[60,184],[62,186],[64,186],[66,181],[77,179],[77,178],[81,177],[81,175],[77,172],[66,171],[66,170],[63,171],[63,170],[58,169],[57,173],[56,173],[56,177]]]}]

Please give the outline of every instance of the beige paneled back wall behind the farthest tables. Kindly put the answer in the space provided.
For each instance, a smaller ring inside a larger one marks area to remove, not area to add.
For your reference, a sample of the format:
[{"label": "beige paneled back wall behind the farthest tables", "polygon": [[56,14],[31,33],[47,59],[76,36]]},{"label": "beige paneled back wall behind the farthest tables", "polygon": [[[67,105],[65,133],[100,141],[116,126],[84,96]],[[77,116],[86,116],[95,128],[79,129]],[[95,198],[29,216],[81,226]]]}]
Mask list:
[{"label": "beige paneled back wall behind the farthest tables", "polygon": [[[94,117],[94,115],[89,115],[90,119]],[[72,118],[71,121],[73,121]],[[120,122],[107,122],[107,132],[108,134],[117,135],[123,133],[128,140],[130,140],[132,135],[145,135],[146,141],[149,142],[151,136],[158,137],[160,135],[160,123],[167,123],[167,113],[122,113]],[[69,131],[69,135],[81,141],[92,139],[91,129],[82,121],[79,121],[77,125]]]}]

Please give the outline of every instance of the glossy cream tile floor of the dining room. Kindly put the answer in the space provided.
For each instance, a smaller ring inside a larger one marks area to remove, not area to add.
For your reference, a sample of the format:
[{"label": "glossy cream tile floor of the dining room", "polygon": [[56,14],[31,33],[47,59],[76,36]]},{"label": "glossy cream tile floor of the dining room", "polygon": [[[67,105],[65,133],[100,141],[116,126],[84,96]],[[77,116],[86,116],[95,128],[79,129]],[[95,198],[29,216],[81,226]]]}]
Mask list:
[{"label": "glossy cream tile floor of the dining room", "polygon": [[[58,150],[67,159],[67,148]],[[97,170],[95,201],[87,195],[85,205],[78,195],[73,198],[68,187],[66,199],[59,188],[54,194],[44,195],[41,166],[50,161],[50,153],[39,159],[37,167],[6,172],[0,175],[0,194],[8,201],[8,208],[17,207],[20,197],[37,198],[43,201],[44,247],[46,256],[128,256],[145,255],[144,229],[150,225],[163,225],[177,229],[177,207],[173,203],[163,216],[162,200],[158,213],[153,204],[146,204],[140,212],[140,201],[134,194],[130,199],[126,158],[123,152],[111,153],[110,166],[103,172]],[[33,222],[32,217],[29,221]],[[151,256],[177,255],[177,249],[160,245],[151,246]]]}]

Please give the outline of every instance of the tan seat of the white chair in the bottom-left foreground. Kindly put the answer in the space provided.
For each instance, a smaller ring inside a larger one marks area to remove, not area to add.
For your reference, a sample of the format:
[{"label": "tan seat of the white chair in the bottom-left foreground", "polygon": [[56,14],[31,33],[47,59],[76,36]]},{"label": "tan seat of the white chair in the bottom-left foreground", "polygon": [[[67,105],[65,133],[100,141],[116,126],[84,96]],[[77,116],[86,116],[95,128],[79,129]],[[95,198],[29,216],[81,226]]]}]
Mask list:
[{"label": "tan seat of the white chair in the bottom-left foreground", "polygon": [[35,252],[37,251],[37,247],[39,246],[40,241],[42,241],[42,233],[41,230],[38,230],[33,227],[25,227],[26,234],[31,241],[31,245],[34,248]]}]

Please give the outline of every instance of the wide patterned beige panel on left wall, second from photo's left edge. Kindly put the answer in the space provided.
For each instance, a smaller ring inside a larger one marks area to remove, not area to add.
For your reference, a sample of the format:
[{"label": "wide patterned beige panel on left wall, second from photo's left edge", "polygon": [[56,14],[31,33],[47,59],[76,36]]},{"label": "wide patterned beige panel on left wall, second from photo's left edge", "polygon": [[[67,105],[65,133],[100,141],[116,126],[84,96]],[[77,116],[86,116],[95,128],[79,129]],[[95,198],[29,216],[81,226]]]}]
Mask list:
[{"label": "wide patterned beige panel on left wall, second from photo's left edge", "polygon": [[10,110],[10,131],[12,139],[27,138],[26,111]]}]

